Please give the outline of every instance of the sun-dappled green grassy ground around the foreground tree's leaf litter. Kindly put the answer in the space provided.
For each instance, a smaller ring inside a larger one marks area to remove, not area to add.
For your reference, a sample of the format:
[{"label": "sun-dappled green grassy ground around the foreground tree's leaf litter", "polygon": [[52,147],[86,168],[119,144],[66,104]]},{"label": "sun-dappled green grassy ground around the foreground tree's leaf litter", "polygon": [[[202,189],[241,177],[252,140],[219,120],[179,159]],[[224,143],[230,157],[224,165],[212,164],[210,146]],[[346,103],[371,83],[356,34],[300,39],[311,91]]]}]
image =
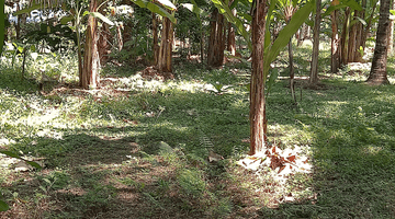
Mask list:
[{"label": "sun-dappled green grassy ground around the foreground tree's leaf litter", "polygon": [[[305,76],[311,48],[294,49]],[[179,61],[168,83],[111,67],[99,91],[44,95],[5,65],[0,147],[45,168],[0,169],[10,205],[0,218],[395,218],[395,89],[365,85],[365,72],[328,77],[328,60],[321,53],[319,90],[297,81],[296,105],[286,80],[268,99],[270,141],[311,148],[314,173],[285,185],[236,164],[249,147],[248,64],[208,71]],[[286,76],[286,60],[276,66]],[[225,159],[210,163],[210,151]]]}]

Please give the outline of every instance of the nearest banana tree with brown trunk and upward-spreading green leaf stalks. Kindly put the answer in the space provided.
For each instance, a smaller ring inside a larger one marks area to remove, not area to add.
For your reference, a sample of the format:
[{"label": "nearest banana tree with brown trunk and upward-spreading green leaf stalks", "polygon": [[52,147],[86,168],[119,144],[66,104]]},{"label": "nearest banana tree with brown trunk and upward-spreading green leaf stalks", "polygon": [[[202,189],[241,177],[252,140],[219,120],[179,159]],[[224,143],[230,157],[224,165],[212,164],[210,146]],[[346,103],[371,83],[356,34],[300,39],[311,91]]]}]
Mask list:
[{"label": "nearest banana tree with brown trunk and upward-spreading green leaf stalks", "polygon": [[[252,51],[252,72],[250,82],[250,154],[257,154],[267,146],[267,115],[266,115],[266,87],[274,82],[276,71],[270,72],[270,64],[279,56],[280,51],[289,44],[292,35],[306,21],[313,11],[314,1],[306,2],[292,16],[289,24],[271,42],[269,26],[276,0],[253,0],[251,7],[251,33],[246,30],[236,14],[221,0],[212,0],[219,13],[233,23],[238,33],[246,39],[248,48]],[[267,7],[269,9],[267,10]],[[250,35],[252,36],[250,38]],[[267,84],[267,81],[268,84]]]}]

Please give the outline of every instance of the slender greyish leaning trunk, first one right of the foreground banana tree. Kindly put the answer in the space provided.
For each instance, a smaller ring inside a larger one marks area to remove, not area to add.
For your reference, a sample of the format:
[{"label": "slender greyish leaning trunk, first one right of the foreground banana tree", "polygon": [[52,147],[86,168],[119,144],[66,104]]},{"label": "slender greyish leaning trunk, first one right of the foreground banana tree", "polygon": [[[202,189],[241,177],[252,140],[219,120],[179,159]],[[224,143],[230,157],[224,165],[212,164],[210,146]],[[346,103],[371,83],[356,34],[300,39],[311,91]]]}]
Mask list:
[{"label": "slender greyish leaning trunk, first one right of the foreground banana tree", "polygon": [[313,55],[312,55],[312,69],[309,76],[309,83],[318,83],[318,54],[319,54],[319,26],[320,26],[320,4],[321,0],[316,1],[316,15],[314,20],[313,30]]}]

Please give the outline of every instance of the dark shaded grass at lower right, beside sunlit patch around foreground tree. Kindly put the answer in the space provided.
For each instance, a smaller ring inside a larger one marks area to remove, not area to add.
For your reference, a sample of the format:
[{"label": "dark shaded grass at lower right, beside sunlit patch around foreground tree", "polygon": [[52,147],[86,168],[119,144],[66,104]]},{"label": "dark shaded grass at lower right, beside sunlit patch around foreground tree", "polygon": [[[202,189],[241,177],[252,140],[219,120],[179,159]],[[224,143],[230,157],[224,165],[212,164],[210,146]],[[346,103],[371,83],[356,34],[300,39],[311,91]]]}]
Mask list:
[{"label": "dark shaded grass at lower right, beside sunlit patch around foreground tree", "polygon": [[314,135],[317,199],[263,207],[263,218],[395,217],[394,88],[341,84],[341,92],[306,91],[295,114]]}]

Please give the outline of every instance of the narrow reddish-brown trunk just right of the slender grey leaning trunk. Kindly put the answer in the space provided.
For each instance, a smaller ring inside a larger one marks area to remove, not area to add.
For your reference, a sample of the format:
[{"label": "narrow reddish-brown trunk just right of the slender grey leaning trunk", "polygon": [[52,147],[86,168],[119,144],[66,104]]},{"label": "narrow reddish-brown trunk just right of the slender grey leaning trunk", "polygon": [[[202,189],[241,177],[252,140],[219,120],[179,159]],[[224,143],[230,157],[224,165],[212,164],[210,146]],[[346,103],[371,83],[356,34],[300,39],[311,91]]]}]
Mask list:
[{"label": "narrow reddish-brown trunk just right of the slender grey leaning trunk", "polygon": [[[332,5],[334,1],[332,1]],[[330,46],[330,72],[337,73],[340,68],[340,38],[338,33],[338,14],[339,11],[335,10],[330,12],[331,19],[331,46]]]}]

